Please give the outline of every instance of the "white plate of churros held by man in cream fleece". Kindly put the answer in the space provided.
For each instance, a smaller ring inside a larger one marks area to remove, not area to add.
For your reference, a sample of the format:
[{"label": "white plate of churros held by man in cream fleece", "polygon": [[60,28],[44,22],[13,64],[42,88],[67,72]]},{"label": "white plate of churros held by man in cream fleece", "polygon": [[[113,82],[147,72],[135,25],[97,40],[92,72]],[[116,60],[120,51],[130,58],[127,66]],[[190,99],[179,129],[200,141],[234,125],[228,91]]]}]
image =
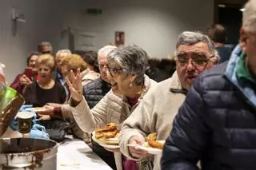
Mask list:
[{"label": "white plate of churros held by man in cream fleece", "polygon": [[135,148],[142,149],[150,154],[161,154],[163,145],[165,144],[165,140],[156,140],[157,139],[157,133],[150,133],[146,137],[146,142],[142,145],[140,144],[127,144],[128,146],[133,146]]}]

